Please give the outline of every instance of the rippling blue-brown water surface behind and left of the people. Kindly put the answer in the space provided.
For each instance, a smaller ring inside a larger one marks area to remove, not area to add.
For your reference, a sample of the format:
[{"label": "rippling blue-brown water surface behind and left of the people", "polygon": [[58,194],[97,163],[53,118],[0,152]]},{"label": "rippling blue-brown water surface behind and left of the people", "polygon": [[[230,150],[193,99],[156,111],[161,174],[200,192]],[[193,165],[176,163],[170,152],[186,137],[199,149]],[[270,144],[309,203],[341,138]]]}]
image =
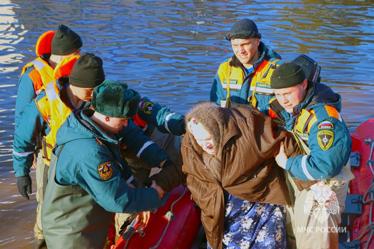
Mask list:
[{"label": "rippling blue-brown water surface behind and left of the people", "polygon": [[341,113],[353,132],[374,117],[373,16],[371,0],[2,0],[0,246],[32,247],[36,184],[30,200],[19,195],[11,153],[18,78],[43,32],[67,25],[82,37],[82,51],[103,59],[107,79],[185,113],[209,99],[218,65],[232,55],[224,36],[249,18],[283,60],[304,53],[321,65],[322,82],[342,96]]}]

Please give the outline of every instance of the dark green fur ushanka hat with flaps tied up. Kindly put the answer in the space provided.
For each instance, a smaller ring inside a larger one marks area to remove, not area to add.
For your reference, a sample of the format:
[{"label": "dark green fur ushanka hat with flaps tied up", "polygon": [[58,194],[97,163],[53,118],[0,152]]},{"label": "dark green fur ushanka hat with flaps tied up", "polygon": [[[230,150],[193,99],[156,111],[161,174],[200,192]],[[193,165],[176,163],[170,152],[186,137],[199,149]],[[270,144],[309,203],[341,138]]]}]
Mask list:
[{"label": "dark green fur ushanka hat with flaps tied up", "polygon": [[140,95],[126,83],[105,80],[93,89],[93,110],[108,117],[130,118],[137,114]]}]

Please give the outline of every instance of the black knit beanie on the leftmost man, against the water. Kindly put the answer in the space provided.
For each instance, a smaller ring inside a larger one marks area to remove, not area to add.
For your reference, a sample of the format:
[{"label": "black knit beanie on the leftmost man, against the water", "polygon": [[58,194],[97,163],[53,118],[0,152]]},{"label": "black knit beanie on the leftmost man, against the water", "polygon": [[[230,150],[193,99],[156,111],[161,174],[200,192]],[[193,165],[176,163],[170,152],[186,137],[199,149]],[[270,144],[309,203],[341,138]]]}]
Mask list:
[{"label": "black knit beanie on the leftmost man, against the water", "polygon": [[52,55],[67,55],[83,46],[82,38],[70,28],[61,24],[53,35],[51,48]]}]

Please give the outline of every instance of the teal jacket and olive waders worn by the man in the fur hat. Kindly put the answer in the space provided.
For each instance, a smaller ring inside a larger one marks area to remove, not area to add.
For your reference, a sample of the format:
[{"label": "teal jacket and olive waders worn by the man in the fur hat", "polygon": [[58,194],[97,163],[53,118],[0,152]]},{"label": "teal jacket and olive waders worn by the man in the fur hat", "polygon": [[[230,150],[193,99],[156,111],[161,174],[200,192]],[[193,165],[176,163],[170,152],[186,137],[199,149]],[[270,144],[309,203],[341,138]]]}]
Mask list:
[{"label": "teal jacket and olive waders worn by the man in the fur hat", "polygon": [[160,205],[154,188],[127,185],[136,182],[120,155],[119,141],[90,119],[93,113],[73,110],[56,134],[58,158],[51,156],[55,170],[49,171],[42,206],[48,248],[102,248],[111,212],[138,213]]}]

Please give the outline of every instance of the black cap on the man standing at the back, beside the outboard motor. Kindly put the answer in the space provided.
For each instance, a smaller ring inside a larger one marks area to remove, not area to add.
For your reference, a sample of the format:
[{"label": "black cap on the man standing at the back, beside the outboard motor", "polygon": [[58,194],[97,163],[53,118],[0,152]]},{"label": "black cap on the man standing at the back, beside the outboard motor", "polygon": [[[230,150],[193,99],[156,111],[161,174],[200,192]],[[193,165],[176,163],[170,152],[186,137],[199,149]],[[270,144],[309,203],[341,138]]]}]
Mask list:
[{"label": "black cap on the man standing at the back, beside the outboard motor", "polygon": [[247,18],[235,22],[230,32],[226,34],[226,40],[249,39],[252,37],[261,39],[261,34],[258,33],[258,28],[255,22]]}]

